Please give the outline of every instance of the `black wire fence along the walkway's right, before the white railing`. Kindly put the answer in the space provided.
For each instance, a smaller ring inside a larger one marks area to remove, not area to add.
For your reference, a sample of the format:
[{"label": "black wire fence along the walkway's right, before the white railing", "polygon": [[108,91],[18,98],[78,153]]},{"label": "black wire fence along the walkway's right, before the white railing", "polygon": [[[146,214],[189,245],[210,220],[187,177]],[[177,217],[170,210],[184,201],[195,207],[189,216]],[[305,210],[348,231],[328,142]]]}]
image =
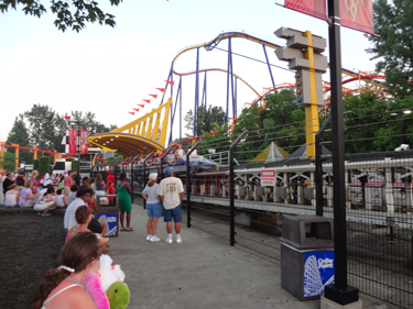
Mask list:
[{"label": "black wire fence along the walkway's right, before the white railing", "polygon": [[[413,143],[413,119],[409,104],[413,107],[406,100],[383,100],[358,113],[347,111],[345,134],[348,283],[401,308],[413,307],[413,152],[406,146]],[[193,175],[189,224],[280,260],[283,216],[316,214],[317,188],[323,216],[334,218],[328,125],[319,142],[320,169],[315,154],[308,155],[307,143],[302,143],[305,122],[301,130],[296,126],[256,130],[235,146],[235,161],[229,156],[227,168]],[[278,135],[282,128],[283,134]],[[285,128],[292,128],[290,135]],[[275,184],[261,184],[263,169],[275,170]]]}]

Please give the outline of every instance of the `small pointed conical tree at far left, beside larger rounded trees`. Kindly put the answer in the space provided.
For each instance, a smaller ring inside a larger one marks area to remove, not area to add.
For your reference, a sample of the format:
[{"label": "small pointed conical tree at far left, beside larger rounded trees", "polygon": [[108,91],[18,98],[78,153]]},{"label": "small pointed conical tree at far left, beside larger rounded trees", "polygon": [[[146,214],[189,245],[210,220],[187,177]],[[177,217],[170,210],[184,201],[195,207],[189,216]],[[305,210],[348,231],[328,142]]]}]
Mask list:
[{"label": "small pointed conical tree at far left, beside larger rounded trees", "polygon": [[[29,131],[24,123],[23,114],[19,114],[11,128],[8,139],[6,140],[7,145],[19,144],[21,147],[30,147],[29,143]],[[15,154],[14,148],[9,148],[8,152]],[[33,162],[33,154],[28,151],[19,152],[19,159],[24,161],[26,164]]]}]

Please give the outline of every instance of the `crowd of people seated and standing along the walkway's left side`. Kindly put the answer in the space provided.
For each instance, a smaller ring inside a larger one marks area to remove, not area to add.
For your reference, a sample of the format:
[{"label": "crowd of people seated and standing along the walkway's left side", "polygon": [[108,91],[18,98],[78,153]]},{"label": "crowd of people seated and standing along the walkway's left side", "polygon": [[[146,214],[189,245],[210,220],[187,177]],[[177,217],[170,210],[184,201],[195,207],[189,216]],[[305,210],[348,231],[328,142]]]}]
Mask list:
[{"label": "crowd of people seated and standing along the walkway's left side", "polygon": [[[165,168],[164,174],[166,177],[160,184],[157,174],[150,174],[142,192],[148,203],[146,241],[160,241],[156,228],[159,219],[163,216],[167,231],[165,242],[173,243],[174,221],[176,243],[182,243],[183,184],[180,178],[174,177],[172,167]],[[7,173],[3,178],[6,207],[32,207],[42,216],[50,216],[50,211],[56,207],[66,208],[63,223],[67,235],[59,253],[62,266],[46,273],[30,306],[31,309],[98,308],[88,293],[85,280],[90,273],[99,269],[99,256],[109,252],[109,245],[108,239],[105,238],[107,225],[96,220],[93,213],[97,210],[96,199],[99,196],[115,194],[116,179],[112,172],[109,172],[106,181],[100,174],[91,179],[73,176],[70,172],[55,177],[46,173],[39,181],[39,172],[33,170],[31,175]],[[131,192],[127,175],[121,174],[117,184],[117,195],[120,231],[124,232],[134,231],[130,225]],[[108,202],[112,199],[113,197],[110,197]]]}]

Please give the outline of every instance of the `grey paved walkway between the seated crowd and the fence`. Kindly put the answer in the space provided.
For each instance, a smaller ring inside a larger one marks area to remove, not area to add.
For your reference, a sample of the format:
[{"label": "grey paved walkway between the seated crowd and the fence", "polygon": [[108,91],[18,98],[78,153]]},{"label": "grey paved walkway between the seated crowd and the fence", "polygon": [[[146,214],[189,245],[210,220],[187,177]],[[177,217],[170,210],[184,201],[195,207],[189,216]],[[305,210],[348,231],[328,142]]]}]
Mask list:
[{"label": "grey paved walkway between the seated crowd and the fence", "polygon": [[[319,300],[301,302],[281,287],[278,261],[231,247],[196,227],[182,227],[182,244],[166,244],[161,220],[161,242],[146,242],[146,220],[145,210],[133,205],[134,232],[109,241],[113,264],[121,265],[131,289],[129,308],[319,308]],[[363,308],[383,308],[376,299],[362,301]]]}]

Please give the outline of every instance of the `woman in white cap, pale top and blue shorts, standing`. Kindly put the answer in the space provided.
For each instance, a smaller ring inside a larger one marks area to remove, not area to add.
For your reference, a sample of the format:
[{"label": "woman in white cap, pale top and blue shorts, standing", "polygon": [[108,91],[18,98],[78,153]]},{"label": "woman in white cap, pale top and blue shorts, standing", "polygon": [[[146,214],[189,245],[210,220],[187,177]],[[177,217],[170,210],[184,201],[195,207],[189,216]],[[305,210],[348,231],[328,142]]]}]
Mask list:
[{"label": "woman in white cap, pale top and blue shorts, standing", "polygon": [[148,207],[148,223],[146,223],[146,241],[159,242],[160,239],[156,238],[156,227],[157,220],[162,217],[162,203],[157,199],[156,191],[160,185],[156,184],[157,174],[152,173],[149,175],[149,181],[144,190],[142,191],[142,197],[146,201]]}]

